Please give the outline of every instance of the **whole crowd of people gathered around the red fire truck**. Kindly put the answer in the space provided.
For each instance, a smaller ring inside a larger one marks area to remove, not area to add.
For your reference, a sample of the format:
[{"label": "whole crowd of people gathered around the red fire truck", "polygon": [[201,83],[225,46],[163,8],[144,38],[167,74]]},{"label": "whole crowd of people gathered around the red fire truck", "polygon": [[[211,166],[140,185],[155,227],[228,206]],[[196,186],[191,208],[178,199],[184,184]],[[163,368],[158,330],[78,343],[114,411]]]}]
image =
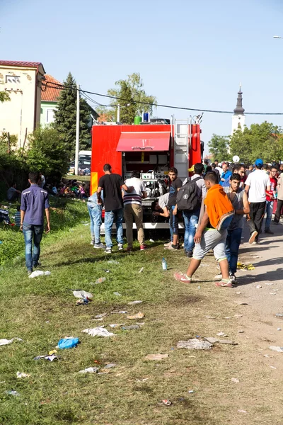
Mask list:
[{"label": "whole crowd of people gathered around the red fire truck", "polygon": [[[105,254],[111,254],[112,226],[115,223],[117,249],[123,251],[124,219],[127,251],[133,250],[134,222],[137,226],[139,248],[144,251],[146,244],[142,199],[146,198],[147,194],[139,171],[132,171],[132,176],[125,181],[119,174],[112,173],[110,164],[105,164],[103,171],[104,176],[98,181],[96,193],[88,196],[87,200],[91,218],[91,244],[95,249],[104,249]],[[241,244],[244,217],[246,216],[250,229],[250,244],[260,243],[265,212],[266,234],[273,234],[270,228],[273,212],[275,212],[273,223],[279,222],[283,206],[283,166],[279,164],[265,166],[262,159],[257,159],[253,166],[226,162],[221,166],[218,162],[209,165],[204,160],[204,164],[195,164],[189,171],[192,175],[181,181],[178,170],[175,167],[169,169],[168,193],[151,204],[153,215],[169,219],[171,240],[164,245],[164,249],[170,251],[180,249],[180,219],[184,223],[183,248],[185,256],[191,260],[187,272],[175,273],[174,277],[183,283],[192,282],[192,276],[202,259],[213,249],[221,271],[216,285],[231,287],[236,283],[238,249]],[[30,187],[22,193],[16,189],[16,185],[11,186],[13,190],[10,188],[8,193],[13,199],[21,196],[21,208],[18,208],[16,213],[16,221],[23,230],[26,266],[30,274],[39,264],[44,214],[47,220],[46,232],[50,231],[50,205],[44,177],[42,179],[40,173],[30,172],[28,181]],[[60,183],[59,186],[64,187],[65,191],[67,188],[71,191],[71,188],[80,187],[72,181]],[[84,186],[81,187],[83,196],[87,196]],[[62,193],[60,189],[54,196],[60,196]],[[274,205],[275,201],[277,208]],[[103,209],[105,244],[100,239]]]}]

